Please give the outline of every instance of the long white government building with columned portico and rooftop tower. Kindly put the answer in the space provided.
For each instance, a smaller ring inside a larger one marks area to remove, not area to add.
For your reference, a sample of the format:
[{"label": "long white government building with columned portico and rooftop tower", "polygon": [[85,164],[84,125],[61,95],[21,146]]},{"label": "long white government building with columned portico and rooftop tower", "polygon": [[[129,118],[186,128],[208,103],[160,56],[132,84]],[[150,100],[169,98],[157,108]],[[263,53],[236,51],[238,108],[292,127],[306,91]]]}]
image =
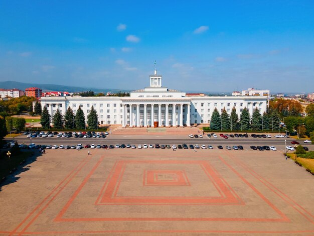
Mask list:
[{"label": "long white government building with columned portico and rooftop tower", "polygon": [[244,107],[251,115],[255,107],[261,113],[267,107],[266,96],[207,96],[168,89],[162,86],[162,75],[158,75],[156,70],[149,76],[149,84],[149,87],[132,91],[129,97],[41,97],[40,101],[51,115],[57,108],[64,114],[69,106],[76,113],[80,106],[86,121],[90,108],[94,106],[101,126],[122,127],[189,127],[209,124],[215,108],[219,112],[225,108],[230,114],[234,106],[240,116]]}]

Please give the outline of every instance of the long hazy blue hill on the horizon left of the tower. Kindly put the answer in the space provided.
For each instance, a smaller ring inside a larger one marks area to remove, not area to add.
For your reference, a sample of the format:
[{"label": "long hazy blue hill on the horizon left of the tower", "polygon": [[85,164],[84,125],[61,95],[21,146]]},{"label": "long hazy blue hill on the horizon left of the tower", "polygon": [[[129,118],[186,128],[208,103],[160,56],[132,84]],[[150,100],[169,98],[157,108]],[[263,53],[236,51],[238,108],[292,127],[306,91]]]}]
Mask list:
[{"label": "long hazy blue hill on the horizon left of the tower", "polygon": [[58,84],[37,84],[37,83],[21,83],[16,81],[4,81],[0,82],[0,88],[18,88],[20,90],[25,90],[29,87],[39,87],[43,91],[67,91],[67,92],[83,92],[83,91],[89,91],[92,90],[96,93],[103,92],[128,92],[127,90],[121,90],[121,89],[108,89],[108,88],[86,88],[86,87],[75,87],[75,86],[66,86],[66,85],[58,85]]}]

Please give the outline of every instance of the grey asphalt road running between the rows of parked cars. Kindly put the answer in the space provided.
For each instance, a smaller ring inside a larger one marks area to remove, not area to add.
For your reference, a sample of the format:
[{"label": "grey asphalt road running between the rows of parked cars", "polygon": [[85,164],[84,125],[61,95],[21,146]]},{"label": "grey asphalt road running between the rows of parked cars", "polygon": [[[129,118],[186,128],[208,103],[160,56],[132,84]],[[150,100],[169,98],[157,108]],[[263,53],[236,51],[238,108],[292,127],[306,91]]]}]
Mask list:
[{"label": "grey asphalt road running between the rows of parked cars", "polygon": [[[8,139],[9,140],[9,139]],[[11,139],[12,140],[12,139]],[[18,141],[19,144],[30,144],[31,139],[27,138],[26,136],[19,136],[14,138],[14,140]],[[107,144],[107,145],[115,145],[115,144],[131,144],[131,145],[138,145],[138,144],[169,144],[169,145],[178,145],[178,144],[198,144],[198,145],[212,145],[213,147],[217,147],[218,145],[225,146],[238,146],[242,145],[243,147],[249,148],[249,146],[275,146],[277,148],[281,148],[282,150],[285,149],[284,144],[285,139],[284,138],[229,138],[229,139],[223,139],[221,137],[214,139],[214,138],[207,138],[204,136],[203,138],[189,138],[189,137],[183,137],[180,136],[178,138],[177,136],[162,136],[162,137],[151,137],[147,136],[145,138],[139,138],[139,137],[132,137],[132,138],[117,138],[117,136],[110,135],[105,138],[32,138],[32,143],[41,144],[41,145],[77,145],[77,144]],[[291,141],[294,141],[294,139],[288,138],[286,141],[286,146],[294,146],[291,144]],[[314,148],[311,147],[309,144],[303,144],[302,141],[299,141],[302,146],[308,147],[310,150],[313,150]]]}]

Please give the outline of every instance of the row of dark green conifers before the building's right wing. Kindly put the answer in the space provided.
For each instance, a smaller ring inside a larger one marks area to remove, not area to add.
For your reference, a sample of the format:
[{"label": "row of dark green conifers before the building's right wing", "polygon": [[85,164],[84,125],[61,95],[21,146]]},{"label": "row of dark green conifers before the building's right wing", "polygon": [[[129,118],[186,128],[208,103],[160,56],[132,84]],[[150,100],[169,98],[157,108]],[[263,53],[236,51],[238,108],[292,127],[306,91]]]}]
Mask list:
[{"label": "row of dark green conifers before the building's right wing", "polygon": [[239,117],[235,107],[232,108],[230,115],[225,108],[222,110],[221,114],[217,108],[215,108],[211,117],[210,128],[212,130],[277,131],[280,129],[279,124],[280,116],[277,110],[261,114],[256,107],[251,117],[247,108],[244,107]]}]

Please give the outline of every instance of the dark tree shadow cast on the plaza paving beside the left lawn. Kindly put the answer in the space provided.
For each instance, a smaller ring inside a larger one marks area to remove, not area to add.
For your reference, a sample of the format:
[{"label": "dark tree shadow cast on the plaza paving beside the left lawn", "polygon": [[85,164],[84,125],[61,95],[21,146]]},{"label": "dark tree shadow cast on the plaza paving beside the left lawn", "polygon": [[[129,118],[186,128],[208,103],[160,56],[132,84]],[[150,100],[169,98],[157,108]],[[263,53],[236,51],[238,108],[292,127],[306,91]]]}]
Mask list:
[{"label": "dark tree shadow cast on the plaza paving beside the left lawn", "polygon": [[34,149],[32,155],[22,161],[20,165],[16,167],[16,169],[6,178],[0,182],[0,192],[5,188],[6,185],[17,182],[21,177],[19,176],[21,173],[28,171],[31,168],[33,162],[37,160],[38,157],[41,157],[43,154],[39,152],[39,150]]}]

